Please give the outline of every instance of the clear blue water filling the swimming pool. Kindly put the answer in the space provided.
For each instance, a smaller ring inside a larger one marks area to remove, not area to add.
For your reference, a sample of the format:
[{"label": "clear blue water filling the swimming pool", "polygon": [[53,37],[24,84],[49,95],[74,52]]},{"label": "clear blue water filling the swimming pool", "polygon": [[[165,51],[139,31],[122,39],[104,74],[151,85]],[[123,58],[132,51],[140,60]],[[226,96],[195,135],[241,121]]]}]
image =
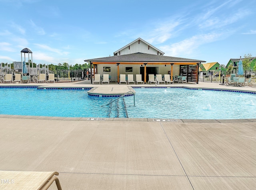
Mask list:
[{"label": "clear blue water filling the swimming pool", "polygon": [[256,95],[184,88],[136,88],[134,97],[92,97],[86,90],[2,88],[0,114],[55,117],[249,119]]}]

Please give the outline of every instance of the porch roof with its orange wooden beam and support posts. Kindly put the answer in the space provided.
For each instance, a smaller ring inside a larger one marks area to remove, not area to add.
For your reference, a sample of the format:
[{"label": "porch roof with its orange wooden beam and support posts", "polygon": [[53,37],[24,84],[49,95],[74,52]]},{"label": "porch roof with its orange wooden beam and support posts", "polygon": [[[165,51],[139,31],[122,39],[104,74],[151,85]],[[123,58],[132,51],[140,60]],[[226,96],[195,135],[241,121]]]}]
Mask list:
[{"label": "porch roof with its orange wooden beam and support posts", "polygon": [[[86,62],[90,63],[90,68],[92,69],[92,66],[94,68],[94,74],[95,74],[95,66],[100,64],[108,64],[108,65],[117,65],[117,75],[119,76],[119,66],[120,65],[144,65],[144,82],[146,82],[146,66],[147,65],[170,65],[171,66],[171,79],[173,76],[173,65],[180,65],[180,68],[182,68],[182,72],[186,73],[187,75],[190,73],[190,75],[193,75],[192,82],[198,83],[198,69],[199,64],[202,62],[202,60],[196,60],[196,59],[186,59],[186,58],[180,58],[180,57],[168,57],[163,55],[152,55],[147,53],[131,53],[127,55],[116,55],[111,57],[102,57],[102,58],[96,58],[96,59],[86,59],[84,60]],[[185,70],[184,70],[185,69]],[[191,77],[192,78],[192,77]],[[187,77],[187,80],[188,77]],[[92,83],[92,72],[91,72],[91,83]],[[119,83],[119,77],[118,77],[118,83]]]}]

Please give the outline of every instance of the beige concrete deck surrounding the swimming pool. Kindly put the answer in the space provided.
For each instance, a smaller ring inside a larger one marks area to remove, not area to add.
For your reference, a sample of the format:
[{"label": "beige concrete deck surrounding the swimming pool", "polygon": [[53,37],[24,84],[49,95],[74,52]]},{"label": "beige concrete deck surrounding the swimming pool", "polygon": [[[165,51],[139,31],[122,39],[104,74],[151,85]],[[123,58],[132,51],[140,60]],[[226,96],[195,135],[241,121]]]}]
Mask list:
[{"label": "beige concrete deck surrounding the swimming pool", "polygon": [[[26,85],[98,86],[87,81]],[[218,83],[174,85],[256,91]],[[72,190],[256,186],[256,119],[88,119],[0,115],[0,170],[57,171],[62,188]],[[0,183],[3,187],[8,184]]]}]

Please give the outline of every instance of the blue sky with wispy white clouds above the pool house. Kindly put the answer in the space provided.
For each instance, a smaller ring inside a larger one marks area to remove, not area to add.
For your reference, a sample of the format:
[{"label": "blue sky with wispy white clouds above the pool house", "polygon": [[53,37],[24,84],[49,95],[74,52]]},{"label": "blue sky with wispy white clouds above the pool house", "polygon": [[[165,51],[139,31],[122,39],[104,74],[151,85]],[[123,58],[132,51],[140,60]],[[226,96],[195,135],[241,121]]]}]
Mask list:
[{"label": "blue sky with wispy white clouds above the pool house", "polygon": [[254,0],[0,0],[0,62],[83,64],[142,38],[166,56],[256,56]]}]

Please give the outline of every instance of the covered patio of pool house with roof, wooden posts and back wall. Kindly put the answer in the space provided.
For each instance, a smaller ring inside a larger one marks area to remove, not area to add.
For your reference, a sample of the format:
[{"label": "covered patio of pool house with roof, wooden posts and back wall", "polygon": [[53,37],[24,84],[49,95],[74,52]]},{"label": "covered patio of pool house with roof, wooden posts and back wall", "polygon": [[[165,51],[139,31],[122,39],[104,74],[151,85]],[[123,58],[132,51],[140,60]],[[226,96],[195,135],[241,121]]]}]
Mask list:
[{"label": "covered patio of pool house with roof, wooden posts and back wall", "polygon": [[84,61],[90,63],[90,69],[94,68],[94,74],[110,74],[112,79],[118,83],[120,74],[141,74],[144,83],[147,81],[148,74],[170,74],[171,79],[174,75],[183,75],[187,76],[187,82],[198,83],[199,64],[206,62],[197,59],[169,57],[148,53],[130,53],[86,59]]}]

